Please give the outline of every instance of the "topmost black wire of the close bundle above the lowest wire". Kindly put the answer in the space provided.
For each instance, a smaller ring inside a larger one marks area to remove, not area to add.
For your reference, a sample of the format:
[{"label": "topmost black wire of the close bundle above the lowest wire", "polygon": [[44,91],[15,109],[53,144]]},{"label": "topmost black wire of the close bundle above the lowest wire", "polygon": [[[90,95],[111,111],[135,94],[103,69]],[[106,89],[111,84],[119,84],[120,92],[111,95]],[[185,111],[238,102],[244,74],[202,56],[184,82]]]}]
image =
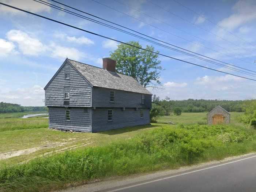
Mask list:
[{"label": "topmost black wire of the close bundle above the lowest wire", "polygon": [[[39,0],[39,1],[42,1],[42,0]],[[239,67],[239,66],[237,66],[237,65],[232,65],[232,64],[229,64],[229,63],[226,63],[226,62],[223,62],[223,61],[217,60],[217,59],[213,59],[213,58],[211,58],[211,57],[207,57],[207,56],[204,56],[204,55],[202,55],[202,54],[199,54],[199,53],[196,53],[196,52],[192,52],[192,51],[190,51],[190,50],[188,50],[188,49],[181,48],[181,47],[179,47],[179,46],[176,46],[176,45],[170,44],[170,43],[165,42],[165,41],[162,41],[162,40],[160,40],[160,39],[157,39],[157,38],[154,38],[154,37],[150,37],[150,36],[148,36],[148,35],[146,35],[146,34],[143,34],[143,33],[140,33],[140,32],[138,32],[138,31],[132,30],[132,29],[130,29],[130,28],[128,28],[128,27],[125,27],[125,26],[123,26],[123,25],[119,25],[119,24],[117,24],[117,23],[114,23],[114,22],[111,22],[111,21],[109,21],[109,20],[106,20],[106,19],[100,18],[100,17],[95,16],[95,15],[93,15],[93,14],[89,14],[88,12],[84,12],[84,11],[78,10],[78,9],[76,9],[76,8],[74,8],[74,7],[71,7],[71,6],[67,5],[67,4],[63,4],[63,3],[60,3],[60,2],[55,1],[55,0],[51,0],[51,1],[53,1],[53,2],[55,2],[55,3],[59,3],[59,4],[63,5],[63,6],[65,6],[65,7],[71,8],[71,9],[73,9],[73,10],[76,10],[76,11],[82,12],[82,13],[84,13],[84,14],[87,14],[87,15],[93,16],[93,17],[95,17],[95,18],[98,18],[98,19],[104,20],[104,21],[106,21],[106,22],[112,23],[112,24],[114,24],[114,25],[117,25],[117,26],[123,27],[123,28],[125,28],[125,29],[131,30],[131,31],[133,31],[133,32],[135,32],[135,33],[138,33],[138,34],[144,35],[144,36],[146,36],[146,37],[148,37],[148,38],[151,38],[151,39],[157,40],[157,41],[159,41],[159,42],[163,42],[163,43],[165,43],[165,44],[168,44],[168,45],[174,46],[174,47],[176,47],[176,48],[179,48],[179,49],[182,49],[182,50],[185,50],[185,51],[188,51],[188,52],[191,52],[191,53],[194,53],[194,54],[197,54],[197,55],[200,55],[200,56],[206,57],[207,59],[212,59],[212,60],[215,60],[215,61],[221,62],[221,63],[223,63],[223,64],[227,64],[227,65],[230,65],[230,66],[233,66],[233,67],[237,67],[237,68],[240,68],[240,69],[245,69],[246,71],[251,71],[251,72],[255,72],[255,73],[256,73],[256,71],[252,71],[252,70],[250,70],[250,69],[242,68],[242,67]],[[45,1],[43,1],[43,2],[45,2]],[[47,2],[45,2],[45,3],[47,3]],[[48,3],[48,4],[50,4],[50,3]],[[50,5],[53,5],[53,4],[50,4]],[[56,6],[56,5],[53,5],[53,6]],[[56,7],[58,7],[58,6],[56,6]],[[64,9],[63,7],[58,7],[58,8]],[[69,11],[69,10],[66,10],[66,11]],[[69,12],[71,12],[71,11],[69,11]],[[74,12],[72,12],[72,13],[74,13]],[[77,13],[75,13],[75,14],[77,14]],[[78,15],[79,15],[79,14],[78,14]],[[83,15],[80,15],[80,16],[83,16]],[[86,17],[86,16],[83,16],[83,17]],[[88,17],[86,17],[86,18],[88,18]],[[91,19],[91,18],[90,18],[90,19]],[[96,21],[96,20],[95,20],[95,21]],[[98,21],[97,21],[97,22],[98,22]],[[129,33],[129,32],[128,32],[128,33]]]}]

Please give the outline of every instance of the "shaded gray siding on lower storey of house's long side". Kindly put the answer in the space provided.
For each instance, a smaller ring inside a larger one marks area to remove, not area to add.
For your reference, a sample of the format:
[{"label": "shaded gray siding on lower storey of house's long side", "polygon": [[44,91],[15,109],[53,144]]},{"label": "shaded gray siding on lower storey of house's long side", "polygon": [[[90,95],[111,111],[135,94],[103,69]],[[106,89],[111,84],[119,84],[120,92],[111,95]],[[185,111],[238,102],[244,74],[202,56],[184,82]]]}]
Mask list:
[{"label": "shaded gray siding on lower storey of house's long side", "polygon": [[143,110],[144,117],[140,118],[140,109],[136,111],[134,108],[127,108],[123,111],[121,108],[112,108],[112,121],[108,121],[108,109],[111,108],[97,108],[93,110],[92,132],[150,123],[149,109],[141,109]]}]

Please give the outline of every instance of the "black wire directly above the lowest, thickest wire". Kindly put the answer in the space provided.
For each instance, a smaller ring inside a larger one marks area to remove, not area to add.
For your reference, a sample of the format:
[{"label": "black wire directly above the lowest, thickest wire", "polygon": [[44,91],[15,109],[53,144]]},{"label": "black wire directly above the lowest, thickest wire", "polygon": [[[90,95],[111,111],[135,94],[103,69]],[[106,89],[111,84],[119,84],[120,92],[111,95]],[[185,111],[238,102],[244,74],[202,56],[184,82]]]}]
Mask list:
[{"label": "black wire directly above the lowest, thickest wire", "polygon": [[[98,20],[91,19],[91,18],[88,18],[88,17],[86,17],[86,16],[84,16],[84,15],[80,15],[80,14],[78,14],[78,13],[75,13],[75,12],[72,12],[72,11],[69,11],[69,10],[66,10],[66,9],[64,9],[63,7],[59,7],[59,6],[57,6],[57,5],[50,4],[50,3],[46,2],[46,1],[43,1],[43,0],[34,0],[34,1],[36,1],[36,2],[38,2],[38,3],[42,3],[42,4],[44,4],[44,5],[48,5],[48,6],[50,6],[50,7],[53,7],[53,8],[55,8],[55,9],[57,9],[57,10],[67,12],[68,14],[78,16],[79,18],[83,18],[83,19],[86,19],[86,20],[90,20],[91,22],[98,23],[98,24],[103,25],[103,26],[106,26],[106,27],[110,27],[111,29],[115,29],[115,30],[117,30],[117,31],[121,31],[121,32],[123,32],[123,33],[132,35],[132,36],[134,36],[134,37],[138,37],[138,38],[140,38],[140,39],[146,40],[146,41],[151,42],[151,43],[153,43],[153,44],[156,44],[156,45],[159,45],[159,46],[162,46],[162,47],[165,47],[165,48],[168,48],[168,49],[171,49],[171,50],[180,52],[180,53],[184,53],[184,54],[186,54],[186,55],[192,56],[193,58],[200,59],[200,60],[206,61],[206,62],[208,62],[208,63],[212,63],[212,64],[215,64],[215,65],[218,65],[218,66],[221,66],[221,67],[225,67],[225,68],[228,68],[228,69],[237,71],[237,72],[241,72],[242,74],[246,74],[246,75],[251,74],[251,76],[256,77],[256,76],[254,76],[254,74],[252,74],[252,73],[249,73],[249,72],[246,72],[246,71],[242,71],[242,70],[240,70],[240,69],[236,69],[236,68],[233,68],[233,67],[227,67],[226,65],[219,64],[219,63],[216,63],[216,62],[214,62],[214,61],[207,60],[207,59],[204,59],[204,58],[202,58],[202,57],[198,57],[198,56],[195,56],[195,55],[193,55],[193,54],[189,54],[189,53],[183,52],[183,51],[178,50],[178,49],[171,48],[171,47],[166,46],[166,45],[163,45],[163,44],[159,44],[158,42],[151,41],[150,39],[146,39],[146,38],[141,37],[141,36],[139,36],[139,35],[136,35],[136,34],[133,34],[133,33],[128,32],[128,31],[119,29],[119,28],[117,28],[117,27],[110,26],[110,25],[108,25],[108,24],[99,22]],[[42,2],[39,2],[39,1],[42,1]],[[44,2],[44,3],[43,3],[43,2]],[[57,2],[57,1],[56,1],[56,2]],[[63,5],[64,5],[64,4],[63,4]],[[65,6],[68,6],[68,5],[65,5]],[[70,6],[68,6],[68,7],[70,7]],[[70,7],[70,8],[72,8],[72,7]],[[73,9],[75,9],[75,8],[73,8]],[[79,10],[79,11],[80,11],[80,10]],[[80,12],[83,12],[83,11],[80,11]],[[103,20],[105,20],[105,19],[103,19]],[[108,21],[108,22],[109,22],[109,21]],[[111,22],[111,23],[112,23],[112,22]],[[117,25],[117,24],[115,24],[115,25]],[[127,28],[127,27],[125,27],[125,28]],[[129,29],[129,28],[127,28],[127,29]],[[129,30],[131,30],[131,29],[129,29]],[[136,33],[139,33],[138,31],[135,31],[135,32],[136,32]],[[142,34],[142,33],[139,33],[139,34]],[[143,35],[144,35],[144,34],[143,34]],[[145,35],[145,36],[147,36],[147,35]],[[148,36],[148,37],[149,37],[149,36]],[[154,38],[153,38],[153,39],[154,39]],[[158,40],[158,39],[156,39],[156,40]],[[158,41],[160,41],[160,40],[158,40]],[[162,42],[164,42],[164,41],[162,41]],[[165,42],[165,43],[166,43],[166,42]],[[181,49],[182,49],[182,48],[181,48]],[[189,50],[188,50],[188,51],[189,51]],[[191,52],[191,51],[189,51],[189,52]],[[192,52],[192,53],[193,53],[193,52]],[[237,67],[237,66],[235,66],[235,67]],[[249,70],[249,69],[246,69],[246,70],[251,71],[251,70]]]}]

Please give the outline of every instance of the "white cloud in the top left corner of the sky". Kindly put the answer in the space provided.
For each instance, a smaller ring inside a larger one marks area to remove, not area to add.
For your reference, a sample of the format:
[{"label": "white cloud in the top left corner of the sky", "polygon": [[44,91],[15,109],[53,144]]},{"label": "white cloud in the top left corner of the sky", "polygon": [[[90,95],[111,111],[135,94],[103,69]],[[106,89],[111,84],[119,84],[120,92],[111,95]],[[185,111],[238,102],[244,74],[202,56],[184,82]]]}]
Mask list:
[{"label": "white cloud in the top left corner of the sky", "polygon": [[[47,0],[45,0],[47,1]],[[1,0],[2,3],[6,3],[8,5],[12,5],[15,7],[19,7],[20,9],[24,9],[27,11],[31,11],[34,13],[38,12],[50,12],[51,8],[49,6],[43,5],[41,3],[37,3],[31,0]],[[49,1],[47,1],[49,2]],[[13,14],[13,15],[26,15],[24,12],[15,10],[13,8],[1,5],[0,13]]]}]

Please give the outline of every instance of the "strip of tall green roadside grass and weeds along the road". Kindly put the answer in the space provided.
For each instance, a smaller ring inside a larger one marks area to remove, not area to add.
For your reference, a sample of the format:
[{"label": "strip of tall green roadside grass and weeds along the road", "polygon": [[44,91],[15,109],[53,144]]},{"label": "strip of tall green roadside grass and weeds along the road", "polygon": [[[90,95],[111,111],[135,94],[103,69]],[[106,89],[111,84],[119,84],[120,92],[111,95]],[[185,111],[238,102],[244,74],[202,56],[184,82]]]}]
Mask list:
[{"label": "strip of tall green roadside grass and weeds along the road", "polygon": [[33,159],[0,170],[0,191],[48,191],[76,183],[176,168],[256,150],[256,131],[227,125],[179,125],[134,138]]}]

